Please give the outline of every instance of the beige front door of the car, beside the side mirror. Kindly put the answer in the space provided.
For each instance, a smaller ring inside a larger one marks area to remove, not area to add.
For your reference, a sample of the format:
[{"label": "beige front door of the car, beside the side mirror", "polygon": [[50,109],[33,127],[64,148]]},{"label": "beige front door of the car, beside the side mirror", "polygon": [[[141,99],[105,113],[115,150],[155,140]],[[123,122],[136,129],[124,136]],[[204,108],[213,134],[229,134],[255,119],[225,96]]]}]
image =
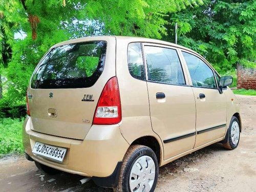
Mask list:
[{"label": "beige front door of the car, beside the side mirror", "polygon": [[197,111],[195,147],[224,136],[226,130],[226,98],[221,94],[212,68],[191,52],[182,51],[187,65]]}]

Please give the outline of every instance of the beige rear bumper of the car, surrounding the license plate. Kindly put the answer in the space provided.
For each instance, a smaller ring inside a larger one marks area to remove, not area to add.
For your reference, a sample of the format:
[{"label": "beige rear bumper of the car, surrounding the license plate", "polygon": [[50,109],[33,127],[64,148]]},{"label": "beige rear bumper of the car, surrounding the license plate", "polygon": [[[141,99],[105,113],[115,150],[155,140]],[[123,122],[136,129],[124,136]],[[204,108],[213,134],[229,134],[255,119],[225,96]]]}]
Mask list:
[{"label": "beige rear bumper of the car, surrounding the license plate", "polygon": [[[111,176],[129,147],[119,125],[93,125],[84,140],[75,140],[34,132],[30,130],[30,123],[27,117],[23,125],[25,153],[34,161],[72,174],[96,178]],[[36,141],[67,148],[63,162],[33,154]]]}]

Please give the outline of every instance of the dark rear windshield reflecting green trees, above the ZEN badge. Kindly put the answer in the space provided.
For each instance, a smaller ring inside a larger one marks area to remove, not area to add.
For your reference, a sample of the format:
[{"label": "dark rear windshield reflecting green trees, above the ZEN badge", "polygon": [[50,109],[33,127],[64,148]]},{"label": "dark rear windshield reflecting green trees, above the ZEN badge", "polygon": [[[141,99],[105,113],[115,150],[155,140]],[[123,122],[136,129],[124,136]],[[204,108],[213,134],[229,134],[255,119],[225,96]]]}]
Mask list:
[{"label": "dark rear windshield reflecting green trees, above the ZEN badge", "polygon": [[53,48],[31,80],[33,89],[88,88],[101,75],[105,41],[88,41]]}]

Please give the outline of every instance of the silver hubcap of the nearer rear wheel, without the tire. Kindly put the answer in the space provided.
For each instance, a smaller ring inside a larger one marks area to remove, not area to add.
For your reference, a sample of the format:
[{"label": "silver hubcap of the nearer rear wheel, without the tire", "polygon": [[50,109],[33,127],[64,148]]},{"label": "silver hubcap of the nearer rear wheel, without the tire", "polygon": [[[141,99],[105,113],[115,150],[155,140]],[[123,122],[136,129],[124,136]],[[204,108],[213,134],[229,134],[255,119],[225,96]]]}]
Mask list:
[{"label": "silver hubcap of the nearer rear wheel, without the tire", "polygon": [[139,157],[133,164],[130,173],[130,190],[132,192],[149,192],[154,184],[156,166],[149,156]]}]

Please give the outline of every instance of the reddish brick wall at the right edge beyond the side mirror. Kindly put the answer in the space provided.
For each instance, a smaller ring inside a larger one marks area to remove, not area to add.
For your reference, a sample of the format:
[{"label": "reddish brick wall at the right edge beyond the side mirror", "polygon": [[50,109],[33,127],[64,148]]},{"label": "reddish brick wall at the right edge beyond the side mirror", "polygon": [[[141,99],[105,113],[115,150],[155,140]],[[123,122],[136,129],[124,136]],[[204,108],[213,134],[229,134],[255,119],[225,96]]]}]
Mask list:
[{"label": "reddish brick wall at the right edge beyond the side mirror", "polygon": [[238,89],[256,90],[256,69],[238,65]]}]

